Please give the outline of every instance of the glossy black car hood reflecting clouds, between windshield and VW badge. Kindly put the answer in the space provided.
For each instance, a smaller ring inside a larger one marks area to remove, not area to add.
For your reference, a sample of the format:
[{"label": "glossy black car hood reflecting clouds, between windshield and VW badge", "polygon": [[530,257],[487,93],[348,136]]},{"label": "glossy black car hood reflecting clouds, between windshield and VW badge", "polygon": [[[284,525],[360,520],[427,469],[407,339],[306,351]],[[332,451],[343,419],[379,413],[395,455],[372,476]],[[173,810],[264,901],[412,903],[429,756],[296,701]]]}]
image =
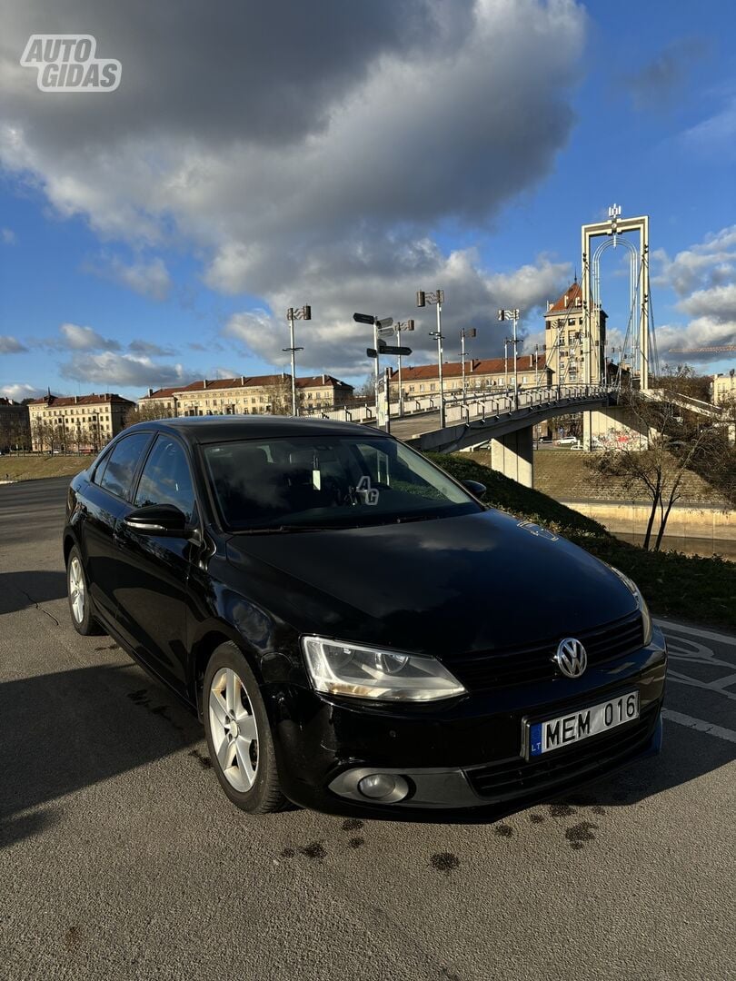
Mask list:
[{"label": "glossy black car hood reflecting clouds, between windshield and VW badge", "polygon": [[598,559],[499,511],[236,535],[231,585],[300,633],[442,655],[575,636],[636,609]]}]

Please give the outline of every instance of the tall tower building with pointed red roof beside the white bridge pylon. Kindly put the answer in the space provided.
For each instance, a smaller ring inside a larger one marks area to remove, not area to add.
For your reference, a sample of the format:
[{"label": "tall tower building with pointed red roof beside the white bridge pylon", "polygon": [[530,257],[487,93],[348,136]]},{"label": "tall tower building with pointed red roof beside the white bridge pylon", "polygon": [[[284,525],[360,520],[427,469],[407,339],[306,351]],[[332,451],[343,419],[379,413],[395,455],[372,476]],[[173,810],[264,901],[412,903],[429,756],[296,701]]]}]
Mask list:
[{"label": "tall tower building with pointed red roof beside the white bridge pylon", "polygon": [[[556,300],[548,302],[545,313],[545,350],[547,363],[560,385],[585,383],[584,356],[592,353],[593,365],[603,365],[605,352],[604,310],[592,311],[590,333],[585,338],[583,294],[577,280],[570,284]],[[596,369],[598,371],[599,369]],[[591,381],[595,384],[598,377]]]}]

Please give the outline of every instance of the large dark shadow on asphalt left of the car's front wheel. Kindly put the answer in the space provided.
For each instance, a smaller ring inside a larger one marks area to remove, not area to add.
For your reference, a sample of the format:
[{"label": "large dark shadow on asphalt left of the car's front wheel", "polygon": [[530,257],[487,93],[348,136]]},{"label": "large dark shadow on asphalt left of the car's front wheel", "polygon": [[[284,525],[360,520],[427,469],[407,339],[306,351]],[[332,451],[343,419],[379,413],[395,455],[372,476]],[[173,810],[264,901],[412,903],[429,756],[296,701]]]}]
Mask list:
[{"label": "large dark shadow on asphalt left of the car's front wheel", "polygon": [[[0,847],[53,826],[53,811],[27,813],[31,808],[201,739],[196,718],[133,664],[5,682],[0,685]],[[201,762],[209,760],[202,756]]]}]

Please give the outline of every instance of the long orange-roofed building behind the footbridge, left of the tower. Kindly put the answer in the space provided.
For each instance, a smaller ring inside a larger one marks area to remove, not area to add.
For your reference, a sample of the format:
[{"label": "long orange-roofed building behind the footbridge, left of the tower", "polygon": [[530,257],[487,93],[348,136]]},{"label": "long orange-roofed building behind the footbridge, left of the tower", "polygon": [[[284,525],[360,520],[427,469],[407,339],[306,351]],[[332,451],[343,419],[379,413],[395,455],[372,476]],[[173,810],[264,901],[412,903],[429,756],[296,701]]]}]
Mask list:
[{"label": "long orange-roofed building behind the footbridge, left of the tower", "polygon": [[[547,367],[545,355],[520,354],[516,373],[519,388],[545,387],[552,385],[552,372]],[[391,383],[397,392],[398,370],[392,369]],[[443,363],[443,388],[445,393],[462,391],[462,363],[447,361]],[[513,386],[513,354],[508,358],[467,358],[465,360],[465,390],[483,391],[488,388]],[[401,368],[401,392],[404,399],[419,398],[440,391],[440,372],[438,366],[416,365]]]}]

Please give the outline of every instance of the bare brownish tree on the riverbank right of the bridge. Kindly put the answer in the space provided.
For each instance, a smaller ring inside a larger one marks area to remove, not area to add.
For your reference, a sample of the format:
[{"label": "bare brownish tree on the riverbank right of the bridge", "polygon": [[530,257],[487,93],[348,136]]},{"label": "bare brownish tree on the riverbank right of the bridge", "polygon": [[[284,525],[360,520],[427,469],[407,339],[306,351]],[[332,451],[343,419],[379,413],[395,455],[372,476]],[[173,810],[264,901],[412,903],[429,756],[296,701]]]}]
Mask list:
[{"label": "bare brownish tree on the riverbank right of the bridge", "polygon": [[633,427],[648,434],[646,448],[640,448],[637,440],[621,442],[586,462],[598,474],[618,479],[625,490],[644,490],[651,502],[644,547],[649,548],[655,536],[654,550],[658,551],[688,471],[728,473],[731,450],[726,430],[666,400],[648,399],[639,391],[627,392],[619,404],[627,409]]}]

